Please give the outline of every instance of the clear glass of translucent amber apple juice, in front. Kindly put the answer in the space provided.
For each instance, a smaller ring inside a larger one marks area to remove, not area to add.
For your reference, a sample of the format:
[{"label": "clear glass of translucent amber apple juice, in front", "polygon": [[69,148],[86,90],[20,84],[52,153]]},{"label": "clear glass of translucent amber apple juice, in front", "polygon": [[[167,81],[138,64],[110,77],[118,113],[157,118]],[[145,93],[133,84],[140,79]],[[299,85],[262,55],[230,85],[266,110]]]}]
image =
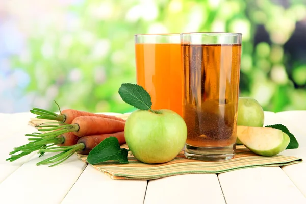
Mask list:
[{"label": "clear glass of translucent amber apple juice, in front", "polygon": [[181,33],[187,158],[235,156],[241,33]]}]

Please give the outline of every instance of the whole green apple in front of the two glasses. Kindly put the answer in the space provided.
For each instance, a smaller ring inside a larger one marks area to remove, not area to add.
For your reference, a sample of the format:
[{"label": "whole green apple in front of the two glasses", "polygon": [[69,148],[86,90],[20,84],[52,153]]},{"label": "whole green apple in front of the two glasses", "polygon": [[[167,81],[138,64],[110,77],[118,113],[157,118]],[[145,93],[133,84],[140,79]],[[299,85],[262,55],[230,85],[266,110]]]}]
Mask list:
[{"label": "whole green apple in front of the two glasses", "polygon": [[124,137],[133,156],[147,164],[171,161],[187,139],[184,119],[174,111],[136,110],[126,119]]}]

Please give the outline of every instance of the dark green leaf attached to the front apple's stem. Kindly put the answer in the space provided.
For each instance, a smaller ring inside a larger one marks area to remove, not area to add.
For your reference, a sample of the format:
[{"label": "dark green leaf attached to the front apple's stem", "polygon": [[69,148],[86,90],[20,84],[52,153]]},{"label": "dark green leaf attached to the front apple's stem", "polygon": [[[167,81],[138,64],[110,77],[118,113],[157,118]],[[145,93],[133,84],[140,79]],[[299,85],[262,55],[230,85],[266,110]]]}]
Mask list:
[{"label": "dark green leaf attached to the front apple's stem", "polygon": [[121,84],[118,93],[125,103],[140,110],[151,110],[151,96],[143,87],[125,83]]}]

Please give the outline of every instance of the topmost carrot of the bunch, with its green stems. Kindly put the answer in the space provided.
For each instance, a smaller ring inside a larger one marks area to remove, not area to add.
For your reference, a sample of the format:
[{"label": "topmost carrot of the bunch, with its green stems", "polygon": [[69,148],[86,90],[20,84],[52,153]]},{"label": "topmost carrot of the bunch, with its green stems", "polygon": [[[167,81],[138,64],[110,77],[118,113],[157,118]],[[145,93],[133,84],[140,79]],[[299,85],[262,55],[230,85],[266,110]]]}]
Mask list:
[{"label": "topmost carrot of the bunch, with its green stems", "polygon": [[89,113],[86,111],[78,111],[74,109],[65,109],[61,111],[60,106],[58,104],[57,106],[59,108],[60,114],[56,114],[56,113],[53,113],[53,112],[50,112],[44,109],[40,109],[40,108],[33,108],[32,110],[30,110],[30,112],[38,115],[36,116],[36,118],[38,119],[56,120],[56,121],[66,123],[66,124],[71,124],[72,121],[79,116],[96,116],[96,117],[102,117],[102,118],[109,118],[113,120],[119,120],[122,122],[125,121],[122,118],[112,116],[112,115]]}]

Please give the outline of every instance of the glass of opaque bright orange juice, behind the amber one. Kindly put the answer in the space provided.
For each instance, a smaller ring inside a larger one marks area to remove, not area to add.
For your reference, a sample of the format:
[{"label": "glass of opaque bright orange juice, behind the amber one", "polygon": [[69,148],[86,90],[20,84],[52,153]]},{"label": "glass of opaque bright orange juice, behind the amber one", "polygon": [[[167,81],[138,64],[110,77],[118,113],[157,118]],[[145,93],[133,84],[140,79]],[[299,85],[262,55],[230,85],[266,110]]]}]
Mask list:
[{"label": "glass of opaque bright orange juice, behind the amber one", "polygon": [[152,109],[183,117],[183,66],[180,34],[136,34],[137,84],[151,96]]}]

